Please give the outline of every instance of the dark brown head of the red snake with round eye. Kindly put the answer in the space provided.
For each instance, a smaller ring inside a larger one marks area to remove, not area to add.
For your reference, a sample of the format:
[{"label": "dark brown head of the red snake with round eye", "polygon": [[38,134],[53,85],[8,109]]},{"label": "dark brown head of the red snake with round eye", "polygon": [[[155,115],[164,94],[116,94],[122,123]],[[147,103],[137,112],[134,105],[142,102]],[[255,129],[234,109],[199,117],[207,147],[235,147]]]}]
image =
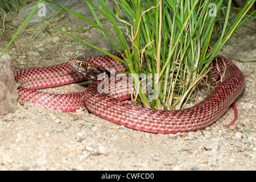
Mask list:
[{"label": "dark brown head of the red snake with round eye", "polygon": [[[88,78],[89,80],[96,80],[98,76],[102,74],[106,74],[110,77],[110,72],[105,68],[102,68],[100,65],[88,61],[88,59],[84,58],[71,58],[68,60],[69,65],[75,71],[79,72],[82,76]],[[101,78],[104,76],[102,75]]]}]

